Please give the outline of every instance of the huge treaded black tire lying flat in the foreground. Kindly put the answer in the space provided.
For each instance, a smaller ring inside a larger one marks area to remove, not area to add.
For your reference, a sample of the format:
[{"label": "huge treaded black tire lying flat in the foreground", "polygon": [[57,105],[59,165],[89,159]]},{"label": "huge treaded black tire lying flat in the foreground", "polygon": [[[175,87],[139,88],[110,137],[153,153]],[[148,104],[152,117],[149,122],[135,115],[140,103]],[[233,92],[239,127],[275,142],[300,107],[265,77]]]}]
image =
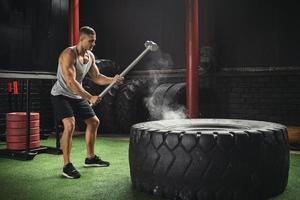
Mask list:
[{"label": "huge treaded black tire lying flat in the foreground", "polygon": [[288,182],[287,129],[227,119],[140,123],[129,163],[135,188],[168,199],[267,199]]}]

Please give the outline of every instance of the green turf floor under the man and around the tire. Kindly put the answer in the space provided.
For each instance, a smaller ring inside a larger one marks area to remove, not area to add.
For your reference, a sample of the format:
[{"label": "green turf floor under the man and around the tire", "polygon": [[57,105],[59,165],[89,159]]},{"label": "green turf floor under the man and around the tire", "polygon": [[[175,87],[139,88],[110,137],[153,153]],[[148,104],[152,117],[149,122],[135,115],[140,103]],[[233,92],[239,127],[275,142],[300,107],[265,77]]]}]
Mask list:
[{"label": "green turf floor under the man and around the tire", "polygon": [[[54,146],[49,138],[43,145]],[[2,143],[3,144],[3,143]],[[0,148],[4,147],[0,145]],[[96,152],[111,162],[108,168],[84,168],[85,143],[81,136],[74,137],[73,164],[82,177],[63,179],[62,156],[40,154],[32,161],[0,158],[0,199],[101,199],[101,200],[155,200],[160,199],[132,189],[128,166],[128,141],[98,138]],[[291,155],[289,183],[286,191],[273,198],[300,199],[300,155]]]}]

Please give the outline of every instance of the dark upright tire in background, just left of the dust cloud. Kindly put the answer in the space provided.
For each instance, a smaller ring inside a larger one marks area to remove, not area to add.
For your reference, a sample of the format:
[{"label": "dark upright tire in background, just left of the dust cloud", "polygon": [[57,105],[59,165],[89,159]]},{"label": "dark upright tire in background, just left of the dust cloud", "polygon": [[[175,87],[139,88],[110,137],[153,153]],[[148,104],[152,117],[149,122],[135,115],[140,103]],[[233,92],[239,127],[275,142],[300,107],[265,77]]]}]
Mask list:
[{"label": "dark upright tire in background, just left of the dust cloud", "polygon": [[121,133],[129,135],[133,124],[148,120],[149,112],[144,101],[147,93],[145,80],[133,79],[121,86],[116,101],[116,116]]}]

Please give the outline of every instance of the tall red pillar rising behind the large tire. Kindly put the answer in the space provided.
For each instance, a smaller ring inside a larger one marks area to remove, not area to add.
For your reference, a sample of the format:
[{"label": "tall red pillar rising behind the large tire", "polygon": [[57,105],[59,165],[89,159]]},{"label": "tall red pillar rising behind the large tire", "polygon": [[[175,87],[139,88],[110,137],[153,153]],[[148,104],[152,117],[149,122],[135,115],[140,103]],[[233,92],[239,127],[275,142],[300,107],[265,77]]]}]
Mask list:
[{"label": "tall red pillar rising behind the large tire", "polygon": [[199,4],[198,0],[186,0],[186,102],[187,116],[199,115]]}]

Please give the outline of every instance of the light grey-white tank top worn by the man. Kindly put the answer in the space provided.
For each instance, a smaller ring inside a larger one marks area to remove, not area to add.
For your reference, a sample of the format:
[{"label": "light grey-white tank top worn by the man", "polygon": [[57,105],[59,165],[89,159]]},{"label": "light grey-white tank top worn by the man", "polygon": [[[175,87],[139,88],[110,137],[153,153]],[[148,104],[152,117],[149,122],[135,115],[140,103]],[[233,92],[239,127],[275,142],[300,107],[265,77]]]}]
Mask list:
[{"label": "light grey-white tank top worn by the man", "polygon": [[[92,58],[91,58],[91,52],[88,52],[89,55],[89,61],[86,64],[82,64],[79,60],[79,56],[76,50],[76,46],[70,47],[72,51],[75,54],[75,69],[76,69],[76,81],[78,81],[82,85],[82,81],[85,77],[85,75],[88,73],[92,66]],[[57,81],[52,87],[51,94],[53,96],[57,95],[64,95],[73,99],[81,99],[82,97],[75,94],[66,84],[62,70],[61,70],[61,65],[58,62],[58,68],[57,68]]]}]

